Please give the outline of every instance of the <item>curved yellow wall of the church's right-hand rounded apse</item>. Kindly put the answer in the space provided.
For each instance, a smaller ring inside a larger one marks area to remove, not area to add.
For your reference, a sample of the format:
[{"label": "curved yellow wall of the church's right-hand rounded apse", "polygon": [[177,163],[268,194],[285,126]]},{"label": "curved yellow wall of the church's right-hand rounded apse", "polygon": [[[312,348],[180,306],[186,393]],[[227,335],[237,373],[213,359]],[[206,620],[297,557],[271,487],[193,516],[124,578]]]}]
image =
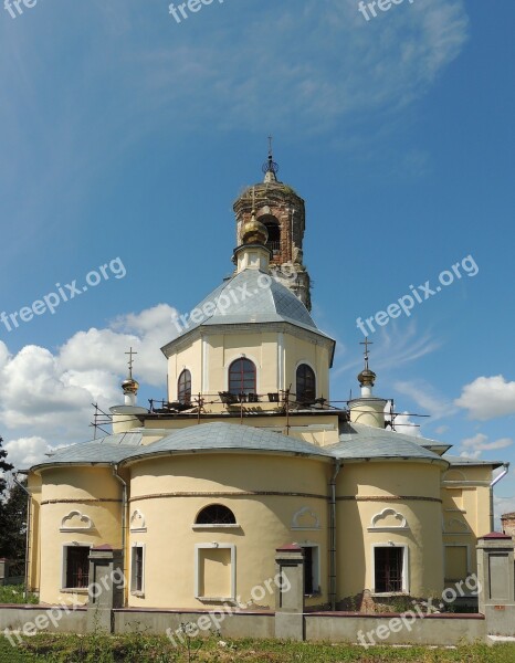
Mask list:
[{"label": "curved yellow wall of the church's right-hand rounded apse", "polygon": [[442,591],[440,476],[440,466],[422,463],[344,465],[337,480],[338,599],[375,591],[375,546],[407,548],[406,591]]}]

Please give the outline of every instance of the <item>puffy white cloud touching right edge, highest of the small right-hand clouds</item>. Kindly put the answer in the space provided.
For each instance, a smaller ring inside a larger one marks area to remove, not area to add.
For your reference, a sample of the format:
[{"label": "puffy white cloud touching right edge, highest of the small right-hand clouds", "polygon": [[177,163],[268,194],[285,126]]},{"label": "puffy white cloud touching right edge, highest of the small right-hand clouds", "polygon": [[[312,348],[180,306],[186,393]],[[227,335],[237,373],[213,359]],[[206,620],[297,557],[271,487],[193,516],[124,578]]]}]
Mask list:
[{"label": "puffy white cloud touching right edge, highest of the small right-hand clouds", "polygon": [[481,421],[514,414],[515,382],[508,382],[503,376],[480,377],[465,385],[454,402],[469,410],[471,419]]}]

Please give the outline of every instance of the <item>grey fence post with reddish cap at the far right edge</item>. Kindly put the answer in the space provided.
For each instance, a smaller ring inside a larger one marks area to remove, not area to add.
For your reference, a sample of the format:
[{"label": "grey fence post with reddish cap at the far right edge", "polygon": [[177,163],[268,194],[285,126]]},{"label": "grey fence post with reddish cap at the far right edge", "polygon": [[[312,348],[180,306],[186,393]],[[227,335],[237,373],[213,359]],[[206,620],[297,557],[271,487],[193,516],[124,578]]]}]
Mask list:
[{"label": "grey fence post with reddish cap at the far right edge", "polygon": [[514,543],[493,532],[477,541],[479,610],[488,635],[515,635]]}]

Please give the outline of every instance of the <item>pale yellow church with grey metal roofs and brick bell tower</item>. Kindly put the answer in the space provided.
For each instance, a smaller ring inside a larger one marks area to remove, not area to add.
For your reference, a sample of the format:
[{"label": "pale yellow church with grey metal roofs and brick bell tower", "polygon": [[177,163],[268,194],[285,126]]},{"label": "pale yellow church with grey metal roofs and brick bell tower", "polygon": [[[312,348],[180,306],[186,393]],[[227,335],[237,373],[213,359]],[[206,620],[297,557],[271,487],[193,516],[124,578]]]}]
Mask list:
[{"label": "pale yellow church with grey metal roofs and brick bell tower", "polygon": [[99,546],[122,551],[134,608],[235,606],[292,544],[307,610],[359,608],[365,591],[435,596],[475,572],[504,463],[392,430],[368,345],[358,397],[332,401],[335,340],[311,315],[304,200],[272,155],[263,170],[234,202],[232,276],[170,320],[166,398],[137,404],[130,357],[112,434],[28,470],[28,579],[42,602],[85,603]]}]

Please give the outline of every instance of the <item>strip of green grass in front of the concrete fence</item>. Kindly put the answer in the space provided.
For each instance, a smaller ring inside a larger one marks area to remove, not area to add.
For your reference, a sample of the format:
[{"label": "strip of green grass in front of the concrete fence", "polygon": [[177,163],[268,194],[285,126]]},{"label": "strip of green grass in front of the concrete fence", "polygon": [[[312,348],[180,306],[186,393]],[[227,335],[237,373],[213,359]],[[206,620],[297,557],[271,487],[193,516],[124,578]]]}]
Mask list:
[{"label": "strip of green grass in front of the concrete fence", "polygon": [[[222,643],[221,643],[222,642]],[[22,645],[11,646],[0,636],[0,663],[388,663],[411,661],[417,663],[513,663],[515,645],[464,645],[455,650],[429,648],[370,648],[329,643],[292,643],[281,641],[223,640],[211,636],[191,640],[174,648],[161,636],[143,634],[107,638],[97,634],[49,635],[25,639]]]}]

